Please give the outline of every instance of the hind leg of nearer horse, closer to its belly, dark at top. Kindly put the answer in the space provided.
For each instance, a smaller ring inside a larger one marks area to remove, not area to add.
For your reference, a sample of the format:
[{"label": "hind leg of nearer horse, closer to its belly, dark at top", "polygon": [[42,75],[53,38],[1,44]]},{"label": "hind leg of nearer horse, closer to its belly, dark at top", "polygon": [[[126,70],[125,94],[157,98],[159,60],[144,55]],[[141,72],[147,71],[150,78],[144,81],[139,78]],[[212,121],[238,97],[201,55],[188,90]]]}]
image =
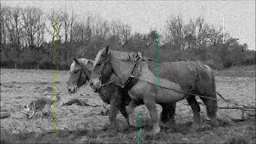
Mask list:
[{"label": "hind leg of nearer horse, closer to its belly, dark at top", "polygon": [[194,122],[192,124],[192,130],[198,130],[198,127],[200,126],[200,106],[195,99],[193,95],[189,95],[188,98],[186,98],[186,101],[189,103],[191,106],[191,109],[193,110],[194,114]]}]

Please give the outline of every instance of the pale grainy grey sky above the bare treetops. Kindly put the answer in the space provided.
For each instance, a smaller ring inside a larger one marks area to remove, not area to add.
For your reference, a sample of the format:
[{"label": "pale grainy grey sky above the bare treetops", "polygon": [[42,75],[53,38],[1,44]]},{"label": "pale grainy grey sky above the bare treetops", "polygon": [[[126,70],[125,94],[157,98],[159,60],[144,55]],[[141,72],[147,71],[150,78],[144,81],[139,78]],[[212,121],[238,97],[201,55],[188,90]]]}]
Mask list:
[{"label": "pale grainy grey sky above the bare treetops", "polygon": [[223,26],[231,37],[239,38],[255,50],[255,1],[22,1],[1,0],[4,6],[36,6],[48,12],[65,9],[80,16],[99,14],[106,20],[120,20],[133,32],[162,32],[170,15],[182,14],[184,23],[199,16],[215,28]]}]

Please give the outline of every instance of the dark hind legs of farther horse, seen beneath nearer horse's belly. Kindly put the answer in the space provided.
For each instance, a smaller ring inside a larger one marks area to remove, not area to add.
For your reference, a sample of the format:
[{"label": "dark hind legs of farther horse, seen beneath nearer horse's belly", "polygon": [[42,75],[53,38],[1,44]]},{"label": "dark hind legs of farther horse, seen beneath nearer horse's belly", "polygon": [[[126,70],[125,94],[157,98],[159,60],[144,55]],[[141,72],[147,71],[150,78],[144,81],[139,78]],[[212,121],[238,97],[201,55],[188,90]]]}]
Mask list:
[{"label": "dark hind legs of farther horse, seen beneath nearer horse's belly", "polygon": [[163,123],[170,122],[171,125],[175,124],[174,114],[176,103],[160,103],[162,112],[160,114]]}]

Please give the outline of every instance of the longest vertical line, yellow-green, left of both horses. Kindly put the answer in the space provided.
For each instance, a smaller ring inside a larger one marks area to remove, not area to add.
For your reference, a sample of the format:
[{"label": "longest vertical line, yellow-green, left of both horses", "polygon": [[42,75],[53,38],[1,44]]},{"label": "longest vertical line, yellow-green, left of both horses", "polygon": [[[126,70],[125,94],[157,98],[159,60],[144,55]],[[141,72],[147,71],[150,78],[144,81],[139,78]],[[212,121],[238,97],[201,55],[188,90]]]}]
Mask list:
[{"label": "longest vertical line, yellow-green, left of both horses", "polygon": [[57,48],[56,48],[56,41],[57,41],[57,36],[56,36],[56,25],[57,25],[57,23],[56,23],[56,20],[54,20],[54,138],[55,138],[55,141],[57,140],[57,134],[56,134],[56,125],[57,125],[57,123],[56,123],[56,119],[57,119],[57,114],[56,114],[56,109],[57,109],[57,105],[56,105],[56,101],[57,101],[57,98],[56,98],[56,94],[57,94],[57,78],[56,78],[56,73],[57,73],[57,71],[56,71],[56,67],[57,67],[57,65],[56,65],[56,53],[57,53]]}]

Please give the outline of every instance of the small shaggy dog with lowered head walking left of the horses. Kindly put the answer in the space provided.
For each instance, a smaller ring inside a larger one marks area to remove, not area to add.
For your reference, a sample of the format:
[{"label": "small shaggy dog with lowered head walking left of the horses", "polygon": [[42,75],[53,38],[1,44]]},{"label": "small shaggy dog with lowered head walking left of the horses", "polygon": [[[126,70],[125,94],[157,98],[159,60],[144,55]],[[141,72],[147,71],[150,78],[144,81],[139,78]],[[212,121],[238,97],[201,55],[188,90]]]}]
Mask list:
[{"label": "small shaggy dog with lowered head walking left of the horses", "polygon": [[[57,102],[59,101],[59,97],[57,97]],[[50,110],[54,108],[54,100],[50,98],[38,98],[30,104],[23,106],[26,112],[26,115],[29,118],[32,118],[35,113],[41,112],[41,119],[43,116],[43,112],[50,114]]]}]

